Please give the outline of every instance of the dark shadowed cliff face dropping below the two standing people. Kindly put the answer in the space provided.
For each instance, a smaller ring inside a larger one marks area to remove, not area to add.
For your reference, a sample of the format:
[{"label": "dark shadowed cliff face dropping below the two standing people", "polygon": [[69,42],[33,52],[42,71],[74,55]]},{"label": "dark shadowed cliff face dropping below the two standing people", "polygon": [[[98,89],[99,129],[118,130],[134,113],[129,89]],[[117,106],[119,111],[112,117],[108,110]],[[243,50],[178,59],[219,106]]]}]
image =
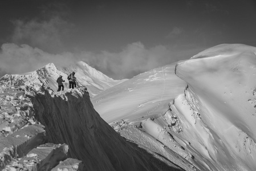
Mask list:
[{"label": "dark shadowed cliff face dropping below the two standing people", "polygon": [[[69,156],[87,170],[163,170],[156,158],[125,141],[94,110],[85,87],[50,93],[42,89],[32,100],[36,119],[46,128],[48,141],[66,143]],[[155,164],[155,165],[154,165]]]}]

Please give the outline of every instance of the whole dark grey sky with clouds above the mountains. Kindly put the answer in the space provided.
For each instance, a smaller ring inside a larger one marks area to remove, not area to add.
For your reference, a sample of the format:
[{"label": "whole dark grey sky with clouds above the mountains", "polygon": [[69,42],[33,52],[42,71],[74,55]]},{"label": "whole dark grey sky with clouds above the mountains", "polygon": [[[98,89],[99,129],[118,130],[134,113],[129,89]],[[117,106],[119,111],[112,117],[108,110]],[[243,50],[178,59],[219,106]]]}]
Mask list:
[{"label": "whole dark grey sky with clouds above the mountains", "polygon": [[83,60],[132,78],[222,43],[256,46],[253,0],[3,0],[0,76]]}]

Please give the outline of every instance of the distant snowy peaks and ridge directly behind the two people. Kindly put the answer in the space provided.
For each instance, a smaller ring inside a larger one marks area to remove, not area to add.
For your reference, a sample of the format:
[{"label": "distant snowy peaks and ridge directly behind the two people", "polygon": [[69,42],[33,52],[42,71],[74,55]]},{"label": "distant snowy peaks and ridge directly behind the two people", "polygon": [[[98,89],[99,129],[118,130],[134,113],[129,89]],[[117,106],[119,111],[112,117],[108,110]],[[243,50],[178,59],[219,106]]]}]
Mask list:
[{"label": "distant snowy peaks and ridge directly behind the two people", "polygon": [[88,66],[84,62],[77,62],[69,67],[59,67],[57,68],[53,63],[47,64],[46,66],[40,68],[39,70],[33,72],[27,72],[25,74],[14,74],[5,75],[0,79],[0,82],[5,82],[8,86],[20,86],[20,85],[31,85],[33,83],[43,83],[44,85],[50,87],[54,91],[58,89],[58,84],[56,79],[59,75],[63,76],[65,80],[64,89],[69,88],[69,83],[67,76],[75,72],[75,76],[78,80],[77,86],[87,86],[90,96],[93,97],[97,93],[104,91],[105,89],[115,86],[124,80],[113,80],[108,78],[108,76],[102,74],[100,71],[95,70]]}]

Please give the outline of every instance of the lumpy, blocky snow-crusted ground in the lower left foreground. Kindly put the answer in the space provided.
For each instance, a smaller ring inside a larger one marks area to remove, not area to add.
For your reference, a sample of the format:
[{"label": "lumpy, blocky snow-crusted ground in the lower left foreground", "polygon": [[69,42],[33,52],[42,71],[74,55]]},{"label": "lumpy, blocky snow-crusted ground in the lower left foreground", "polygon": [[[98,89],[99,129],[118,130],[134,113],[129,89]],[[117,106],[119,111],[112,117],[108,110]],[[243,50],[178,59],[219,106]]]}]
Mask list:
[{"label": "lumpy, blocky snow-crusted ground in the lower left foreground", "polygon": [[[75,160],[67,158],[67,144],[46,142],[44,126],[34,118],[32,89],[0,86],[0,170],[51,170],[63,160]],[[78,170],[82,161],[75,166]]]}]

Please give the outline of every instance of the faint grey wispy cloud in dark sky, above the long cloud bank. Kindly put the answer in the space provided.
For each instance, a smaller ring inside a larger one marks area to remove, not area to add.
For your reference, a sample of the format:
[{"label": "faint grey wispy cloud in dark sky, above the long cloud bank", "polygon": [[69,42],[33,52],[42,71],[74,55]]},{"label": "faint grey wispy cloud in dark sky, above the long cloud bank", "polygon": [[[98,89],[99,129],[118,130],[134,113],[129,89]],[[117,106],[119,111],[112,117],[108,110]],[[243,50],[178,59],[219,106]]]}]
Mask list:
[{"label": "faint grey wispy cloud in dark sky, above the long cloud bank", "polygon": [[11,41],[16,44],[30,44],[48,52],[64,49],[63,39],[67,37],[72,25],[60,17],[52,17],[47,21],[13,21],[14,32]]}]

